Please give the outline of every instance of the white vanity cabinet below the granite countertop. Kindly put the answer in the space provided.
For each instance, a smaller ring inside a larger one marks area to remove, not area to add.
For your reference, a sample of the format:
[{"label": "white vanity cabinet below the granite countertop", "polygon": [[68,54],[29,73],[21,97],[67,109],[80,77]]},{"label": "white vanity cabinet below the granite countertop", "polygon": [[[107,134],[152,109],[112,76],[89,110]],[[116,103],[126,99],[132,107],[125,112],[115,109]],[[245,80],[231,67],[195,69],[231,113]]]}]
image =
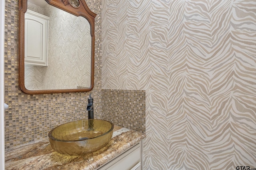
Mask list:
[{"label": "white vanity cabinet below the granite countertop", "polygon": [[98,170],[142,170],[142,141]]}]

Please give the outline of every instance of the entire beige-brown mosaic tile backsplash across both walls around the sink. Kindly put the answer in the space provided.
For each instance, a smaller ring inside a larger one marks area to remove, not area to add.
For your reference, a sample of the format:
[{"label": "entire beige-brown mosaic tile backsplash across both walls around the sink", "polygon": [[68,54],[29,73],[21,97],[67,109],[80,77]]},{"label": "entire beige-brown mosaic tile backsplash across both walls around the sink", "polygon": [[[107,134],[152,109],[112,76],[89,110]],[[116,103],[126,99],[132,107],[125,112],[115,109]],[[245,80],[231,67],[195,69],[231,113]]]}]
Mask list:
[{"label": "entire beige-brown mosaic tile backsplash across both walls around the sink", "polygon": [[[4,80],[5,103],[9,105],[4,112],[6,149],[46,138],[50,129],[57,125],[87,119],[86,106],[90,93],[94,98],[94,118],[107,119],[116,125],[145,132],[144,91],[102,90],[101,0],[86,0],[86,3],[97,14],[93,90],[29,95],[18,87],[18,0],[6,0]],[[114,103],[116,97],[118,102]],[[116,112],[109,109],[110,105],[116,108]]]}]

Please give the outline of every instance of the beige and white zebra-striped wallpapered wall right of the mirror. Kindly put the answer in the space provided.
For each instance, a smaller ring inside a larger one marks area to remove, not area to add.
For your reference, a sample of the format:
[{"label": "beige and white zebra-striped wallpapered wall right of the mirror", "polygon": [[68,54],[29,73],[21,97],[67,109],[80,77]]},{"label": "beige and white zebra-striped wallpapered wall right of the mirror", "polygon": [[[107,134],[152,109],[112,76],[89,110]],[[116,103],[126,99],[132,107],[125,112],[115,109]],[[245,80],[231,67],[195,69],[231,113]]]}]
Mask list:
[{"label": "beige and white zebra-striped wallpapered wall right of the mirror", "polygon": [[256,168],[256,1],[102,1],[102,88],[146,90],[145,170]]}]

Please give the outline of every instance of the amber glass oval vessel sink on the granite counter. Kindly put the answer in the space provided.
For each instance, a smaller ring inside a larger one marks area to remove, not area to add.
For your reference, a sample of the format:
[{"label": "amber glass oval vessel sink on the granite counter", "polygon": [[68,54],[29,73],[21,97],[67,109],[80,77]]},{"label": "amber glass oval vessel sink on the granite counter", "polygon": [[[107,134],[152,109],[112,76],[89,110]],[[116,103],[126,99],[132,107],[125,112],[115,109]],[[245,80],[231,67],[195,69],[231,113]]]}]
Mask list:
[{"label": "amber glass oval vessel sink on the granite counter", "polygon": [[52,129],[49,141],[52,149],[60,154],[83,155],[107,145],[114,125],[100,119],[85,119],[65,123]]}]

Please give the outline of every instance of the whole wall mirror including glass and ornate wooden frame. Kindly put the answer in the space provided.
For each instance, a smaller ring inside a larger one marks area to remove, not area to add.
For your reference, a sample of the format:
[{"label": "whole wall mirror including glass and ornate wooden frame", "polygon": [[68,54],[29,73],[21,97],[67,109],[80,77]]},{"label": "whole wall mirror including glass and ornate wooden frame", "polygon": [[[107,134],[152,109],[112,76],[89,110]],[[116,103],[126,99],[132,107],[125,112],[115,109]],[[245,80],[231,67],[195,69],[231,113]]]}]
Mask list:
[{"label": "whole wall mirror including glass and ornate wooden frame", "polygon": [[20,0],[19,10],[20,89],[92,90],[96,14],[85,0]]}]

